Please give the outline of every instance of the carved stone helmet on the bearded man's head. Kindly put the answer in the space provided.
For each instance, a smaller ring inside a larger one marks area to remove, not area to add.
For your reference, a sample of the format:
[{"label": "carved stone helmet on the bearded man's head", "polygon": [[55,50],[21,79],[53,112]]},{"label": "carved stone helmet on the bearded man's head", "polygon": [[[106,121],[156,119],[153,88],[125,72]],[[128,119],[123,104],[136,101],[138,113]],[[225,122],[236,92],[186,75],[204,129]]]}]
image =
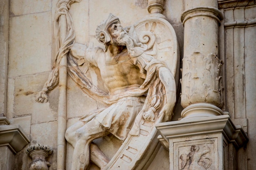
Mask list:
[{"label": "carved stone helmet on the bearded man's head", "polygon": [[108,29],[113,23],[120,24],[120,20],[118,17],[110,13],[108,16],[108,19],[105,22],[103,21],[103,23],[101,23],[99,26],[97,26],[97,29],[96,29],[97,39],[99,40],[99,42],[105,44],[105,46],[111,40],[110,34],[108,33]]}]

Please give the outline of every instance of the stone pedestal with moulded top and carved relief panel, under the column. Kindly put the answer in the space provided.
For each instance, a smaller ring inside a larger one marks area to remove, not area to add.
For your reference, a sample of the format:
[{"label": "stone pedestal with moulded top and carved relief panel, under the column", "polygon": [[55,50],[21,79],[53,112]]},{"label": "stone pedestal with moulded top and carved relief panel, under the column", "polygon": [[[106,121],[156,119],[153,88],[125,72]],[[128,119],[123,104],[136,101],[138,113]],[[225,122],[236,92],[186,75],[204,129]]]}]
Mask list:
[{"label": "stone pedestal with moulded top and carved relief panel, under the column", "polygon": [[160,123],[157,130],[169,150],[170,170],[231,170],[229,144],[238,149],[248,141],[229,115]]}]

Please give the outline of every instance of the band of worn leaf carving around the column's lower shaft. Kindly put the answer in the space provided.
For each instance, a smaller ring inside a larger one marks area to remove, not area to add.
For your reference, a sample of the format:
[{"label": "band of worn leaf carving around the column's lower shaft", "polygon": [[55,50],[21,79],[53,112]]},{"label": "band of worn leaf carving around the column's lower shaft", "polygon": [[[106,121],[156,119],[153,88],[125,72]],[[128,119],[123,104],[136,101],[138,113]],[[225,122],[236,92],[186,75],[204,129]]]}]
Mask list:
[{"label": "band of worn leaf carving around the column's lower shaft", "polygon": [[213,54],[204,56],[201,53],[193,53],[190,57],[184,56],[182,60],[186,60],[182,69],[182,84],[186,84],[181,95],[182,106],[186,108],[189,104],[202,101],[221,107],[222,62],[218,57]]}]

